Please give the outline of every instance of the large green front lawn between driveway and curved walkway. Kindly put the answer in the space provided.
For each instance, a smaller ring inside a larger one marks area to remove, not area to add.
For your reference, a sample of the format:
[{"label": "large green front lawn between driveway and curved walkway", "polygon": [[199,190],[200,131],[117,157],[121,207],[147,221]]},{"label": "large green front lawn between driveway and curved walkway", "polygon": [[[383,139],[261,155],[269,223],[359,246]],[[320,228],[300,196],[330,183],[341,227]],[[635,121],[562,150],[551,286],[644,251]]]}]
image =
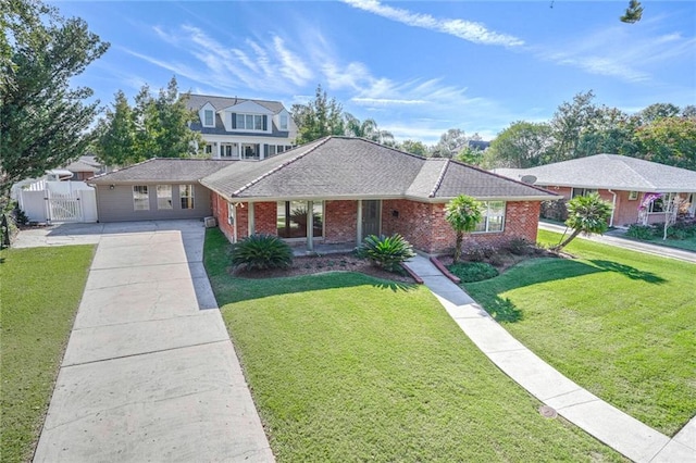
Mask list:
[{"label": "large green front lawn between driveway and curved walkway", "polygon": [[231,277],[204,263],[284,461],[617,461],[498,371],[424,287],[357,273]]}]

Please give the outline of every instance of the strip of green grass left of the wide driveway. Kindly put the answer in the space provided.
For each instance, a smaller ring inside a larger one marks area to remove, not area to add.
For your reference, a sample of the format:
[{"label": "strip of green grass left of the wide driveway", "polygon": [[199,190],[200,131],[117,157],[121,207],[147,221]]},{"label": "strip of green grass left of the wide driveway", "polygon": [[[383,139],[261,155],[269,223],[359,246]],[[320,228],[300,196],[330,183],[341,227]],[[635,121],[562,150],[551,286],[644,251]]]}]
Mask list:
[{"label": "strip of green grass left of the wide driveway", "polygon": [[94,246],[0,252],[3,462],[32,458],[92,254]]}]

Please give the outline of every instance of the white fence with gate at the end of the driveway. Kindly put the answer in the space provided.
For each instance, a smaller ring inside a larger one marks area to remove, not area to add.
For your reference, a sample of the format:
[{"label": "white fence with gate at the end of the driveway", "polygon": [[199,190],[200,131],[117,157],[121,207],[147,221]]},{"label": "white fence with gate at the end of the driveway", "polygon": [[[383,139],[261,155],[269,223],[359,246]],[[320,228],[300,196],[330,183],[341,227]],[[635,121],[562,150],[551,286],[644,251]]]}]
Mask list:
[{"label": "white fence with gate at the end of the driveway", "polygon": [[29,188],[18,193],[20,209],[29,221],[97,222],[97,195],[94,188],[84,182],[46,182],[45,187],[44,190]]}]

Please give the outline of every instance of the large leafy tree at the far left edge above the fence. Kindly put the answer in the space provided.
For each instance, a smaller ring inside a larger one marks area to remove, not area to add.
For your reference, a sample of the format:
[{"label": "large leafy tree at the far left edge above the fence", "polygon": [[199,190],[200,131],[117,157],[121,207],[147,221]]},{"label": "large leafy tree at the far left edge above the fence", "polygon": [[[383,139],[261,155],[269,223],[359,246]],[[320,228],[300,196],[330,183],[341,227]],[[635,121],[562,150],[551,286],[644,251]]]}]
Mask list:
[{"label": "large leafy tree at the far left edge above the fence", "polygon": [[99,101],[71,79],[109,43],[80,18],[65,20],[39,1],[3,2],[0,37],[0,202],[11,186],[66,164],[91,141]]}]

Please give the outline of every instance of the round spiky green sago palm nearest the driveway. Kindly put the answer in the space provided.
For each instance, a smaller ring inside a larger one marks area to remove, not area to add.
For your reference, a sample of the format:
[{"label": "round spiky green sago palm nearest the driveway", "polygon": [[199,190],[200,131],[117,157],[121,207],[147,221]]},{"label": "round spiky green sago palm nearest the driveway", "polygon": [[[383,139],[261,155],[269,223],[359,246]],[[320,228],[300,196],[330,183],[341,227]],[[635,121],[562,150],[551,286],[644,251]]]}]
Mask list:
[{"label": "round spiky green sago palm nearest the driveway", "polygon": [[252,235],[233,246],[232,264],[247,270],[287,268],[293,264],[293,250],[276,236]]}]

